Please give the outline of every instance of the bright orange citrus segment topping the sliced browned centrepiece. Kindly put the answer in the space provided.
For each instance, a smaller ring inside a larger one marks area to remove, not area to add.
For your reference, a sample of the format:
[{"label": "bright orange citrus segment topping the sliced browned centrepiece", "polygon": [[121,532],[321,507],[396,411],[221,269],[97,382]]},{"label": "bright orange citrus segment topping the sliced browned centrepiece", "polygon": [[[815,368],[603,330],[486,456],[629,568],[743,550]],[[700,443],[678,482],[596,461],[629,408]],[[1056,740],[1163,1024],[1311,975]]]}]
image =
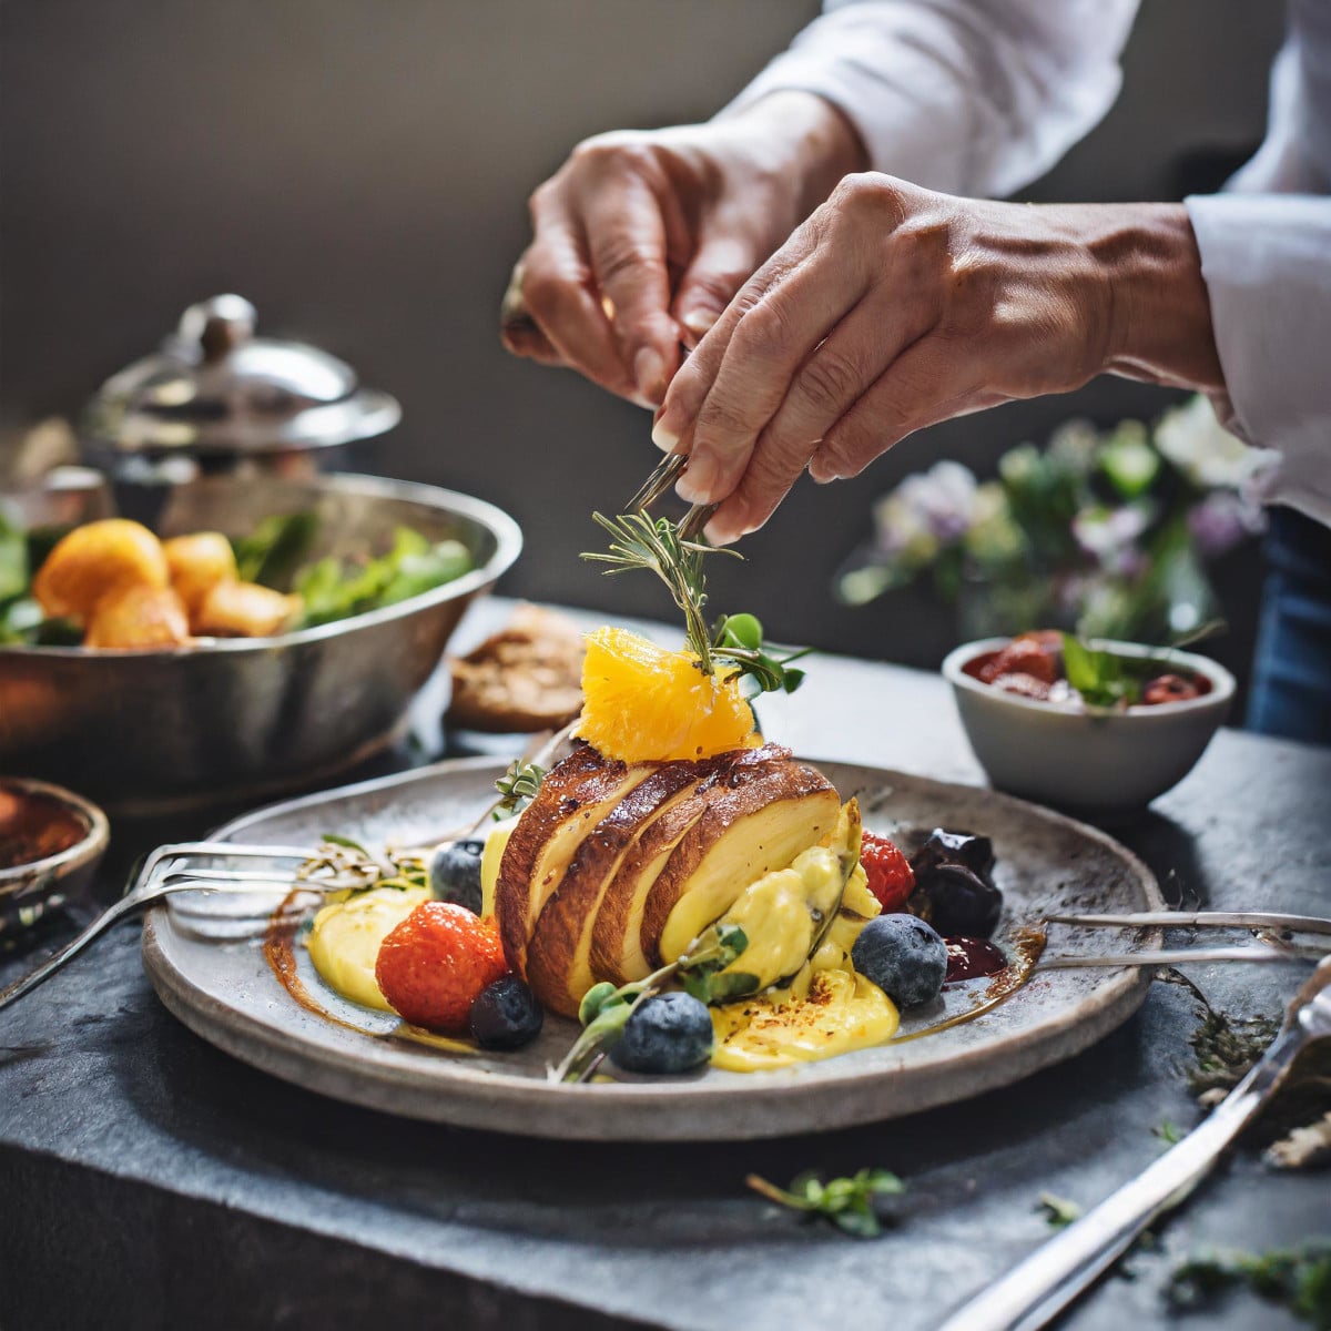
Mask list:
[{"label": "bright orange citrus segment topping the sliced browned centrepiece", "polygon": [[587,635],[576,735],[624,763],[711,757],[763,743],[737,676],[704,675],[692,652],[668,652],[627,628]]}]

